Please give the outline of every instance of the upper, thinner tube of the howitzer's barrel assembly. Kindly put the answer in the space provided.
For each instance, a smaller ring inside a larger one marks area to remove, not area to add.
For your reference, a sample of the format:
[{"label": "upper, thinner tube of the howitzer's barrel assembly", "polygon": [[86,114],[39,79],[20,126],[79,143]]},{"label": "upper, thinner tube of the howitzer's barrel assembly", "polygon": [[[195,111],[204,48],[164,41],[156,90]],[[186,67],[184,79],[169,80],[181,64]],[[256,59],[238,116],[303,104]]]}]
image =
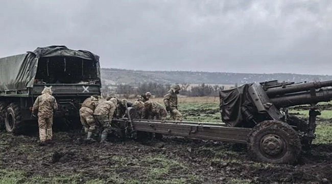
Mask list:
[{"label": "upper, thinner tube of the howitzer's barrel assembly", "polygon": [[322,87],[332,86],[332,80],[328,81],[315,81],[315,82],[306,82],[300,84],[291,84],[291,85],[284,85],[280,87],[272,87],[266,90],[267,95],[270,98],[275,97],[276,95],[284,95],[288,93],[296,93],[300,91],[307,91],[310,89],[319,89]]}]

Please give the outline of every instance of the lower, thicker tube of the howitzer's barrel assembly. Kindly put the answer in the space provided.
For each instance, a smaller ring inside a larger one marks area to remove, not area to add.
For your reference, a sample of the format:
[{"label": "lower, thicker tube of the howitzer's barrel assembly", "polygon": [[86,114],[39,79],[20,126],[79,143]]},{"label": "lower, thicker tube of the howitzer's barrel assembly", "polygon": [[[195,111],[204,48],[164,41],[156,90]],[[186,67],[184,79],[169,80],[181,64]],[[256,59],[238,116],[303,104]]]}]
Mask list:
[{"label": "lower, thicker tube of the howitzer's barrel assembly", "polygon": [[271,102],[278,108],[295,105],[316,104],[332,100],[332,89],[320,89],[316,93],[306,91],[303,93],[289,94],[282,97],[270,98]]}]

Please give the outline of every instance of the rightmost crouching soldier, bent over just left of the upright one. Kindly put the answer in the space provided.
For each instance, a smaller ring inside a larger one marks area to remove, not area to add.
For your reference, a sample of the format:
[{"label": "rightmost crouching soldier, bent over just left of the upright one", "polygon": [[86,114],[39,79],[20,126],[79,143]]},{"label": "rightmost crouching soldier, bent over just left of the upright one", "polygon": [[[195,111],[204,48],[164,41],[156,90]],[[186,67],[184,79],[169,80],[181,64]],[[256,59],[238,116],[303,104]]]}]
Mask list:
[{"label": "rightmost crouching soldier, bent over just left of the upright one", "polygon": [[145,102],[146,114],[149,120],[166,120],[167,110],[158,102]]}]

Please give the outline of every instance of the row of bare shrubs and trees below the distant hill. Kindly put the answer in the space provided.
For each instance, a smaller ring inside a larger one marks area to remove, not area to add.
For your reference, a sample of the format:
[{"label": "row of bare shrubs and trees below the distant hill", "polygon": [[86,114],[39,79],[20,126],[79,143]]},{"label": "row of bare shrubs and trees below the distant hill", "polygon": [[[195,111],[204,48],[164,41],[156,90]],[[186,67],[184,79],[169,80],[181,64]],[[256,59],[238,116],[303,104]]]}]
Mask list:
[{"label": "row of bare shrubs and trees below the distant hill", "polygon": [[[219,90],[225,89],[222,85],[209,85],[209,84],[199,84],[189,88],[189,84],[182,83],[179,84],[181,87],[180,94],[188,97],[205,97],[205,96],[219,96]],[[118,84],[115,89],[112,91],[110,88],[103,87],[102,95],[108,96],[113,94],[118,94],[124,96],[124,98],[129,98],[131,96],[137,96],[140,94],[145,94],[149,91],[155,97],[163,97],[167,91],[171,89],[171,84],[159,84],[156,82],[144,82],[139,83],[138,85],[129,85],[129,84]]]}]

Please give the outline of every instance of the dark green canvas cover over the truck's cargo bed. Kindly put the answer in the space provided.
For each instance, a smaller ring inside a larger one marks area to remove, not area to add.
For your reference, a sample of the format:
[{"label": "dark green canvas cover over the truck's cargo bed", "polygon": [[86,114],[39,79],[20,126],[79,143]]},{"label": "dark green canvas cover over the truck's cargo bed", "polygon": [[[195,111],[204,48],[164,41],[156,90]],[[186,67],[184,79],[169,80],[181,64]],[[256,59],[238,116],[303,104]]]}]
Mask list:
[{"label": "dark green canvas cover over the truck's cargo bed", "polygon": [[79,57],[96,62],[100,79],[99,56],[89,51],[70,50],[65,46],[37,48],[33,52],[0,58],[0,91],[24,90],[33,87],[39,58],[42,57]]}]

